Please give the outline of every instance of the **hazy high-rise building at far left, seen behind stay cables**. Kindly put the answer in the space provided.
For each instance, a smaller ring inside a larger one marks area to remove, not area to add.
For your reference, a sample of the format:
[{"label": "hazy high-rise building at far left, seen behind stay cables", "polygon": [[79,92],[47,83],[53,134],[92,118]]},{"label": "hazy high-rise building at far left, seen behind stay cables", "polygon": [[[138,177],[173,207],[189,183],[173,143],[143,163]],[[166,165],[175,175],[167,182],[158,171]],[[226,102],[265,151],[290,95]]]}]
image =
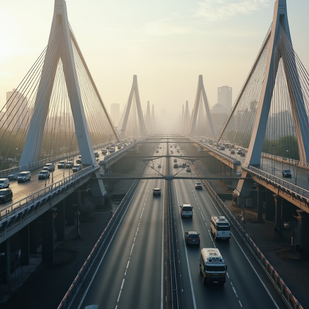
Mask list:
[{"label": "hazy high-rise building at far left, seen behind stay cables", "polygon": [[6,121],[9,130],[25,128],[28,99],[18,90],[6,91]]}]

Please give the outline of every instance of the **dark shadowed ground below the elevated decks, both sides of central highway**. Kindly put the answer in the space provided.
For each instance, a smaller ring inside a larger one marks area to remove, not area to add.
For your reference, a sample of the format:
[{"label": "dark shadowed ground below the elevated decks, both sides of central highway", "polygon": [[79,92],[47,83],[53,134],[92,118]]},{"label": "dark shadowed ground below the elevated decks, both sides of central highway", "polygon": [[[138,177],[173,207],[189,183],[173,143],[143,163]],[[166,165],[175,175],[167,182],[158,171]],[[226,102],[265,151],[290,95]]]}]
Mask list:
[{"label": "dark shadowed ground below the elevated decks, both sides of central highway", "polygon": [[[199,165],[197,162],[196,164]],[[115,189],[123,188],[125,186],[123,182],[124,180],[117,182]],[[212,180],[211,185],[217,193],[230,193],[226,190],[226,185],[220,181]],[[231,201],[227,200],[225,203],[234,216],[240,220],[241,209],[232,207]],[[298,302],[303,308],[309,308],[309,261],[300,260],[298,252],[290,250],[291,231],[283,231],[282,238],[275,240],[273,221],[265,220],[264,214],[263,221],[257,222],[254,208],[246,209],[245,213],[247,233]],[[92,213],[90,221],[80,222],[82,237],[78,242],[76,226],[66,227],[66,240],[55,243],[54,262],[42,264],[40,254],[31,256],[29,266],[22,266],[18,274],[11,275],[11,287],[14,286],[11,290],[15,290],[15,286],[22,284],[17,292],[11,292],[11,297],[8,298],[9,290],[2,286],[0,307],[2,309],[57,308],[110,218],[109,209]]]}]

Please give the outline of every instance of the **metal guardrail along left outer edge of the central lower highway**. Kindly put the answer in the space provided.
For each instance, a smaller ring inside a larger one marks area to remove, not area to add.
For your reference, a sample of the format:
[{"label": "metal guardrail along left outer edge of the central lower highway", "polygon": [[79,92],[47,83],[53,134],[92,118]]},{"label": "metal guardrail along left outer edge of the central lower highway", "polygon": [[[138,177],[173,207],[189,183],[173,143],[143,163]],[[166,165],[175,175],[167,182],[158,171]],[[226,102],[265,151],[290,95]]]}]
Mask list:
[{"label": "metal guardrail along left outer edge of the central lower highway", "polygon": [[[146,167],[144,167],[141,170],[140,175],[142,175],[142,173],[144,173]],[[86,279],[87,275],[89,274],[89,272],[91,270],[93,263],[95,262],[99,252],[103,248],[106,239],[108,239],[109,233],[112,231],[113,227],[118,222],[118,219],[120,218],[120,215],[122,214],[122,211],[124,210],[125,205],[127,205],[129,198],[131,197],[133,191],[135,190],[138,182],[139,182],[139,180],[135,180],[133,182],[132,186],[129,188],[125,197],[122,199],[119,206],[116,208],[115,212],[112,215],[112,218],[108,222],[106,228],[104,229],[103,233],[99,237],[95,246],[91,250],[89,256],[87,257],[87,259],[85,261],[85,263],[83,264],[82,268],[79,270],[77,276],[75,277],[75,279],[74,279],[73,283],[71,284],[69,290],[66,292],[66,294],[62,298],[61,303],[59,304],[57,309],[71,308],[78,292],[80,291],[81,287],[83,286],[84,280]]]}]

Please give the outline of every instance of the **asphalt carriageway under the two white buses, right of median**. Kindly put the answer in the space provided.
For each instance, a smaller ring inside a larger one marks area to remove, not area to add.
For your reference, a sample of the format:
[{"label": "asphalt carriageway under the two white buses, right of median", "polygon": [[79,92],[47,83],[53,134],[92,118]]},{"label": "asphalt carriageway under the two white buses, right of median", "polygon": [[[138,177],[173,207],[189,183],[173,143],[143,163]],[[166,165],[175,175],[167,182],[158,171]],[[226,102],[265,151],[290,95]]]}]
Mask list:
[{"label": "asphalt carriageway under the two white buses, right of median", "polygon": [[[174,169],[177,170],[176,168]],[[210,218],[221,214],[208,193],[194,188],[195,180],[173,181],[173,201],[178,236],[178,249],[183,290],[183,307],[185,308],[284,308],[283,304],[275,303],[270,296],[276,292],[266,290],[261,281],[267,281],[263,276],[260,279],[252,268],[239,241],[234,237],[228,241],[214,241],[210,235]],[[179,205],[193,206],[193,219],[180,218]],[[185,246],[185,231],[200,233],[200,247]],[[218,248],[228,266],[226,283],[223,288],[204,286],[199,271],[199,256],[201,248]]]}]

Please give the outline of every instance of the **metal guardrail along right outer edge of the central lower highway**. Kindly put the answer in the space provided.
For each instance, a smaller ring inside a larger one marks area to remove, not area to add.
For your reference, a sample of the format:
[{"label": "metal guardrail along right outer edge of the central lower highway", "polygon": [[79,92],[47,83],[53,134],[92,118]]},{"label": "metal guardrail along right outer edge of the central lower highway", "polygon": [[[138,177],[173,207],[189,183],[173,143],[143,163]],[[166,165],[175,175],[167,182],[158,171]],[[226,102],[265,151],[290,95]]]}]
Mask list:
[{"label": "metal guardrail along right outer edge of the central lower highway", "polygon": [[[260,171],[260,170],[259,170]],[[231,211],[226,207],[220,197],[218,197],[217,193],[210,186],[207,181],[204,181],[205,187],[208,189],[212,197],[217,201],[218,205],[222,207],[230,222],[233,224],[236,231],[243,238],[247,247],[251,250],[252,254],[259,261],[260,265],[264,269],[267,274],[269,280],[272,282],[273,286],[276,288],[277,292],[280,294],[283,301],[290,309],[303,309],[300,303],[298,303],[297,299],[293,296],[292,292],[286,286],[286,284],[282,281],[279,274],[273,268],[273,266],[269,263],[269,261],[265,258],[264,254],[259,250],[256,244],[253,242],[251,237],[243,230],[243,227],[238,222],[238,220],[233,216]]]}]

